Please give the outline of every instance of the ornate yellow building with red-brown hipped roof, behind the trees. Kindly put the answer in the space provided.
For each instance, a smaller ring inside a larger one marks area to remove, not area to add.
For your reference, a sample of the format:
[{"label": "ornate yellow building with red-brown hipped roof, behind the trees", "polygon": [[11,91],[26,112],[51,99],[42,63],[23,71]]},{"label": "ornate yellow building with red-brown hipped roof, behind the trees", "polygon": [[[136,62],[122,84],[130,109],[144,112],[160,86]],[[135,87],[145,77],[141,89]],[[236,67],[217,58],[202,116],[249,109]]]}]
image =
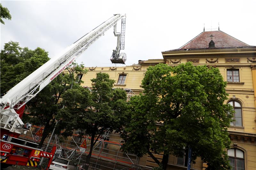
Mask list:
[{"label": "ornate yellow building with red-brown hipped roof, behind the trees", "polygon": [[[228,150],[231,166],[234,170],[256,169],[256,46],[250,46],[222,31],[202,32],[179,49],[162,52],[162,59],[139,60],[138,64],[123,67],[89,67],[88,73],[80,75],[82,86],[92,87],[92,78],[98,72],[108,73],[116,80],[114,88],[126,90],[128,98],[143,93],[141,81],[149,66],[165,63],[176,66],[192,62],[193,65],[217,67],[229,94],[226,103],[231,104],[236,114],[236,121],[231,123],[228,132],[231,148]],[[161,155],[156,155],[161,160]],[[167,169],[187,169],[186,156],[169,157]],[[182,160],[184,159],[184,160]],[[145,169],[157,166],[149,156],[138,160]],[[192,169],[204,169],[206,164],[200,158]]]}]

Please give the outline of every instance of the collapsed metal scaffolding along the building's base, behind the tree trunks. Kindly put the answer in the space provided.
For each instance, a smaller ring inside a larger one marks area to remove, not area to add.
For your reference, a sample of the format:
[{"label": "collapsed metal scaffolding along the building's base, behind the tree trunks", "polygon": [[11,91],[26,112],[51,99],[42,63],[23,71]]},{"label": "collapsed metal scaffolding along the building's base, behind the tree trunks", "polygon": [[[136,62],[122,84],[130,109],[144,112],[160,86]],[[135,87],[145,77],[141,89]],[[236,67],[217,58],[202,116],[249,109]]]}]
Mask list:
[{"label": "collapsed metal scaffolding along the building's base, behind the tree trunks", "polygon": [[[91,91],[89,87],[85,88],[88,88]],[[131,89],[124,90],[127,93],[127,100],[130,100],[131,96],[135,95]],[[44,127],[41,126],[32,126],[30,133],[21,135],[20,137],[34,141],[36,132],[41,128],[44,129]],[[55,135],[51,141],[49,141],[48,137],[44,144],[50,143],[48,150],[51,150],[52,146],[54,145],[57,146],[57,150],[54,155],[55,158],[62,157],[72,159],[75,162],[79,162],[80,164],[78,167],[81,168],[85,164],[86,156],[90,151],[91,137],[79,136],[80,133],[80,130],[74,131],[72,136],[67,138],[63,138],[61,135]],[[81,152],[80,145],[84,140],[86,140],[86,149],[85,152]],[[40,140],[37,142],[40,142]],[[94,170],[141,169],[141,167],[138,165],[139,158],[134,154],[122,152],[121,146],[122,138],[120,135],[114,132],[110,133],[109,129],[107,129],[93,146],[89,168]]]}]

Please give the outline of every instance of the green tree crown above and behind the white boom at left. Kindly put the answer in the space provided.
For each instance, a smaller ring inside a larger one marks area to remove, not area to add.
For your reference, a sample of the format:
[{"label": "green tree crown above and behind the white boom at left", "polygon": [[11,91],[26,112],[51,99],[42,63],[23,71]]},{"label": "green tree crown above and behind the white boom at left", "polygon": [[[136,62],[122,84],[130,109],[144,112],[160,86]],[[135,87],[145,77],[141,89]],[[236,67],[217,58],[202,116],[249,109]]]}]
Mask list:
[{"label": "green tree crown above and behind the white boom at left", "polygon": [[31,50],[21,48],[18,42],[5,43],[0,61],[1,93],[6,93],[49,59],[48,52],[42,48]]}]

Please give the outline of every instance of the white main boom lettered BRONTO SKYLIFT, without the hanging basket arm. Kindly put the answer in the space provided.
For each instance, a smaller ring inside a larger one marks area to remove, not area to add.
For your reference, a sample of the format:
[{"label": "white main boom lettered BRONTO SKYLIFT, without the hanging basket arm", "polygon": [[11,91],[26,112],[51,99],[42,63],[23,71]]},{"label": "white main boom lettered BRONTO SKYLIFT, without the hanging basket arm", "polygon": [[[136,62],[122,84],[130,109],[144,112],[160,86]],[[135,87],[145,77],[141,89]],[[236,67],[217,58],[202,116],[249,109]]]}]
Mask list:
[{"label": "white main boom lettered BRONTO SKYLIFT, without the hanging basket arm", "polygon": [[1,98],[0,102],[1,130],[9,129],[12,132],[26,133],[28,128],[24,128],[23,130],[17,128],[17,126],[20,126],[23,122],[14,109],[20,109],[29,100],[34,98],[37,93],[74,62],[93,42],[104,35],[112,26],[116,28],[117,21],[125,17],[125,15],[115,14],[113,17],[100,24],[100,26],[97,26],[91,32],[85,34],[82,38],[68,46],[60,55],[57,55],[57,57],[43,64],[27,78],[10,89]]}]

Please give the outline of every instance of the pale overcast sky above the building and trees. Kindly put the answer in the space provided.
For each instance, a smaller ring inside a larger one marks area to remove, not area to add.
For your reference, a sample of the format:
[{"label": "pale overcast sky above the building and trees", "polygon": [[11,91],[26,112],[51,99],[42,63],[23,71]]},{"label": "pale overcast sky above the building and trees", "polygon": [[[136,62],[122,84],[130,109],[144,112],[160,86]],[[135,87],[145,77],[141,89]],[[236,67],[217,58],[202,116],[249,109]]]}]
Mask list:
[{"label": "pale overcast sky above the building and trees", "polygon": [[[154,2],[154,3],[153,3]],[[44,48],[53,57],[113,14],[126,13],[126,65],[163,58],[161,52],[180,48],[206,30],[220,30],[256,45],[256,1],[1,1],[12,20],[1,24],[1,49],[12,40],[21,47]],[[120,32],[121,23],[117,29]],[[77,62],[86,67],[115,66],[113,28],[94,42]],[[116,65],[120,66],[120,65]]]}]

